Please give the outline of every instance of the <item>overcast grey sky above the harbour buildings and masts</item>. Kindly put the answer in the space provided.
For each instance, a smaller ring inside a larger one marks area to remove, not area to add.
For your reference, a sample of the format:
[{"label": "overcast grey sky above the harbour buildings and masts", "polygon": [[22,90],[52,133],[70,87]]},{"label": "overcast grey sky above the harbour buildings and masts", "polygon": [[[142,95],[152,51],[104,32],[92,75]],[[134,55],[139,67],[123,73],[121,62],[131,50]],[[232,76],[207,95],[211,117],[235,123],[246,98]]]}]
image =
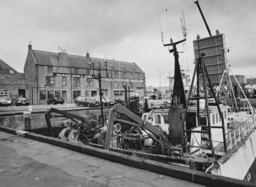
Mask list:
[{"label": "overcast grey sky above the harbour buildings and masts", "polygon": [[[232,72],[256,77],[256,1],[200,0],[215,34],[225,34]],[[23,73],[31,41],[34,50],[67,53],[137,63],[147,85],[167,85],[173,76],[173,55],[164,43],[182,40],[184,12],[186,44],[178,47],[180,66],[193,73],[193,40],[208,37],[194,0],[0,0],[0,59]]]}]

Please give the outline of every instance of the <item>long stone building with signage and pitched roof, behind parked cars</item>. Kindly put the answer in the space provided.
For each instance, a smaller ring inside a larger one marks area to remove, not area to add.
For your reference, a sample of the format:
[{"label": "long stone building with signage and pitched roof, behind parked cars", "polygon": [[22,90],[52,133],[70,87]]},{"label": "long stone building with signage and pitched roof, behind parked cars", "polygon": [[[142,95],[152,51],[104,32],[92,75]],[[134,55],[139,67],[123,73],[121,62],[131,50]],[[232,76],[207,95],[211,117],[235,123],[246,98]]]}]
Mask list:
[{"label": "long stone building with signage and pitched roof, behind parked cars", "polygon": [[124,95],[124,85],[129,87],[131,95],[144,95],[145,76],[136,63],[94,58],[88,52],[86,56],[77,56],[65,51],[32,50],[31,44],[28,45],[24,74],[35,83],[36,89],[31,91],[33,104],[46,104],[52,97],[71,103],[79,95],[99,95],[99,81],[92,78],[98,75],[99,67],[103,95]]}]

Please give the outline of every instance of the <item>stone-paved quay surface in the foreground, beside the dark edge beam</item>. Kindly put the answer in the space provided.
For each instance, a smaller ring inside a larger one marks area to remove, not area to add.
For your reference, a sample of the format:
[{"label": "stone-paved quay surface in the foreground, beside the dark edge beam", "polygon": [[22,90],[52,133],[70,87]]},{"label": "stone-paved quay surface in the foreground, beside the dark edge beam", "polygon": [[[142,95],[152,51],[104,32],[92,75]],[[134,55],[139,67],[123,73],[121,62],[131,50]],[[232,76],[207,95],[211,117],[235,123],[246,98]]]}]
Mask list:
[{"label": "stone-paved quay surface in the foreground, beside the dark edge beam", "polygon": [[205,186],[0,131],[0,186]]}]

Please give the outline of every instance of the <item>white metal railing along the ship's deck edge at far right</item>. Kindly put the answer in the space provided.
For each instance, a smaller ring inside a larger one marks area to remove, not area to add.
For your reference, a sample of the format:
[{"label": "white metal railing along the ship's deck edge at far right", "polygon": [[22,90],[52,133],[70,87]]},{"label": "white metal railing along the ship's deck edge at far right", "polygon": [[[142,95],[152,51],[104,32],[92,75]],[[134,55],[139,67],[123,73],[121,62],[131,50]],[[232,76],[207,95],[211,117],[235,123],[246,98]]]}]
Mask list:
[{"label": "white metal railing along the ship's deck edge at far right", "polygon": [[228,146],[227,150],[234,149],[238,143],[241,143],[242,140],[245,140],[245,138],[254,131],[254,128],[256,128],[255,113],[250,118],[248,118],[248,120],[226,134],[226,143]]}]

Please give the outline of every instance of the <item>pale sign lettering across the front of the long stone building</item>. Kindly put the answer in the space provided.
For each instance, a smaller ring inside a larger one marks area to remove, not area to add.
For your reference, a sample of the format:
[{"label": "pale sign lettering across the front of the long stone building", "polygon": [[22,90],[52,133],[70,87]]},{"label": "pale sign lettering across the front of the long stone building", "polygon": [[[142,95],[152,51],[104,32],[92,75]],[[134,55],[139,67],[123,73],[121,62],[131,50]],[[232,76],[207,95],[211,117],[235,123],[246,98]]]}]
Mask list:
[{"label": "pale sign lettering across the front of the long stone building", "polygon": [[[67,73],[53,73],[54,76],[59,77],[80,77],[80,78],[87,78],[92,79],[92,75],[77,75],[77,74],[67,74]],[[115,78],[102,78],[102,81],[105,82],[144,82],[140,79],[115,79]]]}]

